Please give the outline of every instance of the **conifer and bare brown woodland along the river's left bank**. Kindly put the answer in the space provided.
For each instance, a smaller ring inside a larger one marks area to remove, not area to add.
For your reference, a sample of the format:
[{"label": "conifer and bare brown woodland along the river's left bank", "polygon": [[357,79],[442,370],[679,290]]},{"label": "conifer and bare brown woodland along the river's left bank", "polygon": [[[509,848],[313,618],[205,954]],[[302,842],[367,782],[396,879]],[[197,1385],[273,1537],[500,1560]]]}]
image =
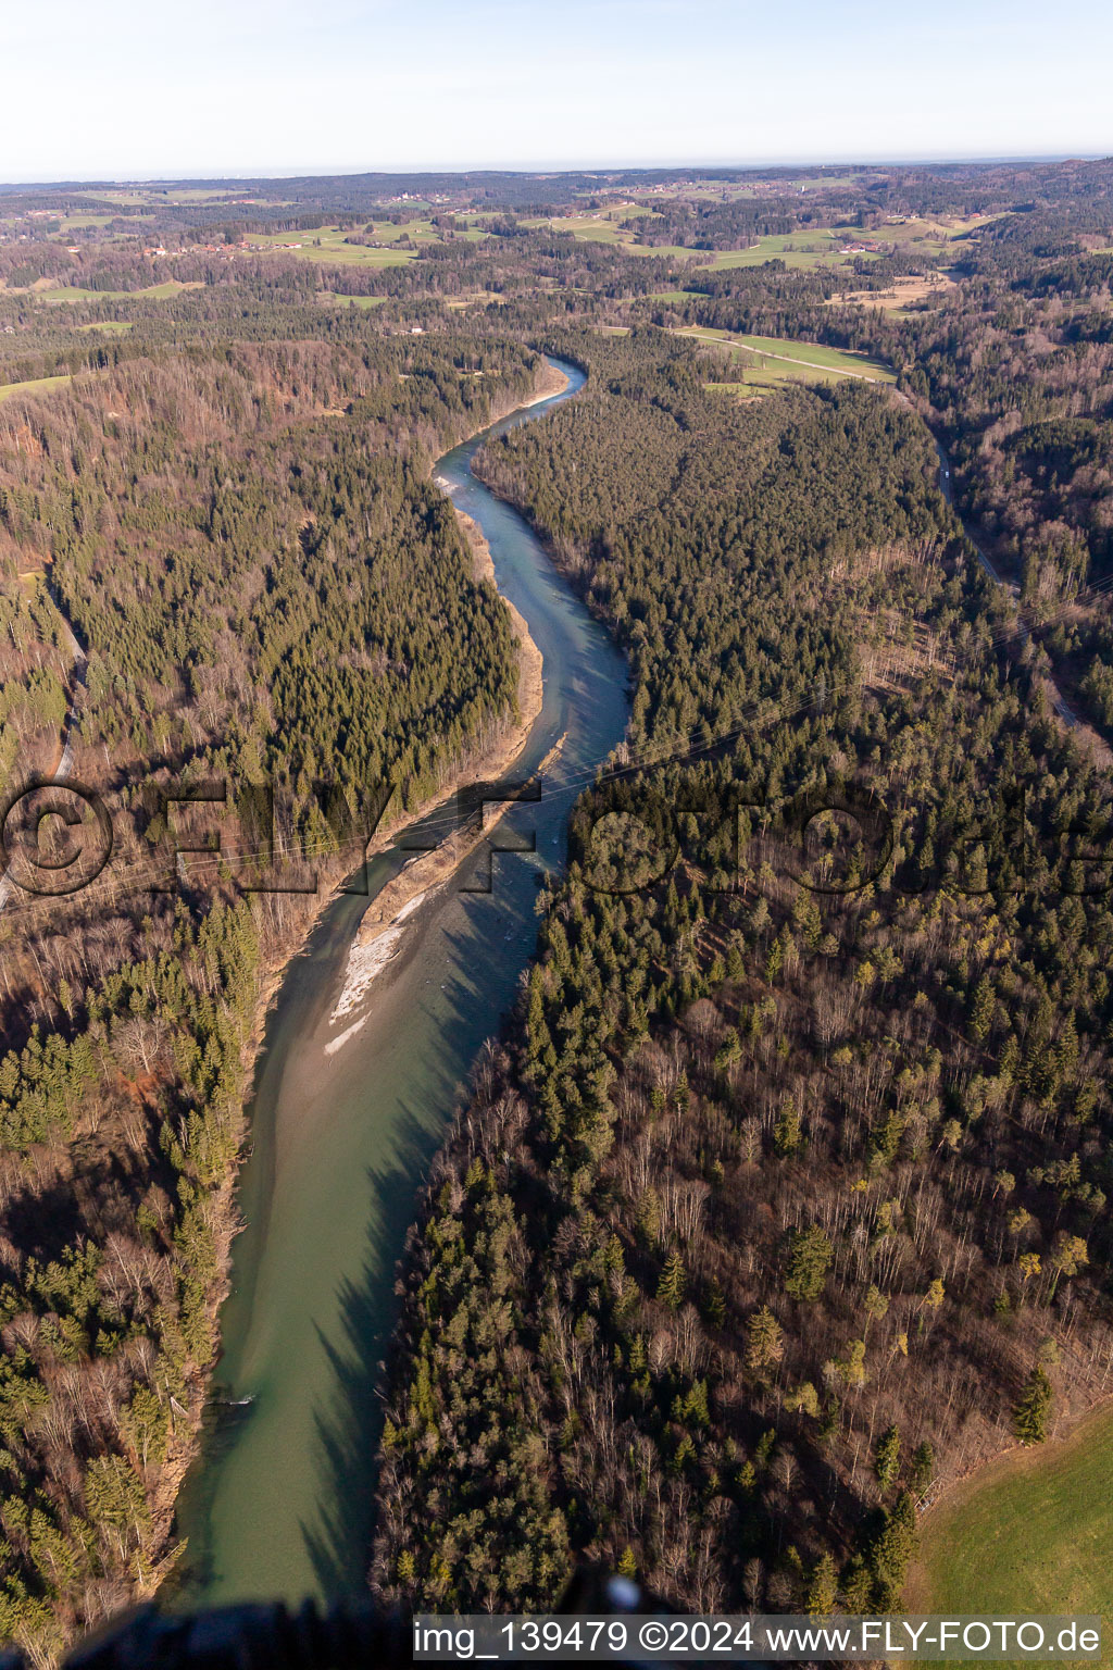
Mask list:
[{"label": "conifer and bare brown woodland along the river's left bank", "polygon": [[357,862],[345,825],[380,785],[397,817],[484,755],[514,646],[427,469],[539,364],[446,337],[227,346],[0,409],[5,793],[58,763],[60,608],[87,650],[75,770],[117,835],[93,887],[0,907],[0,1638],[47,1658],[174,1558],[260,980],[315,907],[252,905],[227,863],[169,893],[159,792],[225,787],[252,882],[272,842],[244,797],[270,785],[312,887]]}]

